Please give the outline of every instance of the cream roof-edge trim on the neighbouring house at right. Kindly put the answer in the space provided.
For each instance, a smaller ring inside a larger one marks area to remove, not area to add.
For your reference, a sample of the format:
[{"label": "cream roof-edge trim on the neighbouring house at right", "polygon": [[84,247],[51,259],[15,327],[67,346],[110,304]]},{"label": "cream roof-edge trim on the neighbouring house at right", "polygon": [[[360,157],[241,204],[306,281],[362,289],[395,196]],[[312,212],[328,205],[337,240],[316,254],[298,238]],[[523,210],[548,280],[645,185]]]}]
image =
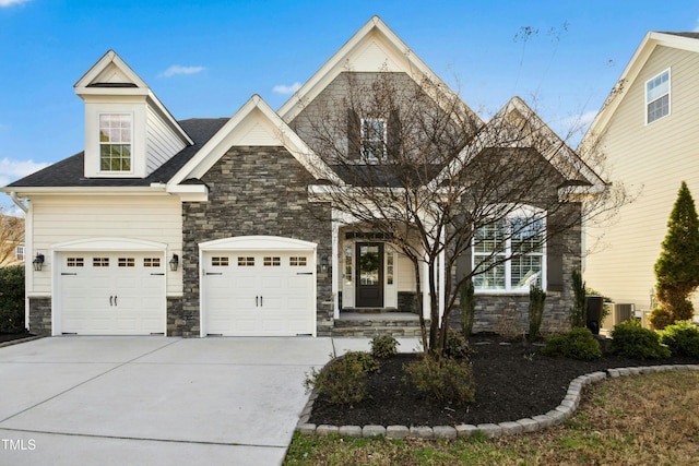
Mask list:
[{"label": "cream roof-edge trim on the neighbouring house at right", "polygon": [[592,121],[590,129],[580,143],[581,147],[592,145],[594,140],[604,133],[616,109],[621,104],[621,100],[624,100],[626,93],[631,88],[641,70],[645,67],[645,63],[650,59],[652,52],[659,46],[699,52],[699,34],[659,33],[653,31],[647,33],[624,69],[621,76],[618,79],[614,88],[602,105],[600,112]]}]

